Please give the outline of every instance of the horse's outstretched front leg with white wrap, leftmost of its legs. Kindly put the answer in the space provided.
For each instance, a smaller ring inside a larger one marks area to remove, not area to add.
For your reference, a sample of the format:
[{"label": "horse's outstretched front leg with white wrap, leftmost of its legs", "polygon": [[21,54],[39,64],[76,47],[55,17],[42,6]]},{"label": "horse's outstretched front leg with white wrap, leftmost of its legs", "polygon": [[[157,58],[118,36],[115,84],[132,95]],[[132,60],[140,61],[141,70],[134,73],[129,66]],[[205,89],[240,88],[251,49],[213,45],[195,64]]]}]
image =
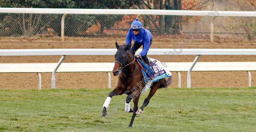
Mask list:
[{"label": "horse's outstretched front leg with white wrap, leftmost of its legs", "polygon": [[122,90],[120,90],[118,87],[116,87],[113,91],[109,92],[108,97],[103,104],[103,111],[101,113],[102,117],[105,117],[108,114],[107,108],[108,108],[108,105],[110,104],[111,98],[115,95],[122,95],[122,94],[123,94]]}]

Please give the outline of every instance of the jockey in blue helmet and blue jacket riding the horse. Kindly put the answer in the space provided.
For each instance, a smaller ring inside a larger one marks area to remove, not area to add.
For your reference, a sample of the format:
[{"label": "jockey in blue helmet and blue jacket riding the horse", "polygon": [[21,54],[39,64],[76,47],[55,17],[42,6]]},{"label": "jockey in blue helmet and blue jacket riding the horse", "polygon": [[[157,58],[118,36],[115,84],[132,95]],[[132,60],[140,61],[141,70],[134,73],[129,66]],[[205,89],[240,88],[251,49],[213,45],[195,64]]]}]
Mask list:
[{"label": "jockey in blue helmet and blue jacket riding the horse", "polygon": [[131,48],[133,55],[140,48],[140,46],[143,45],[143,49],[137,57],[142,58],[145,63],[150,66],[147,53],[152,44],[152,34],[148,29],[142,27],[142,24],[138,18],[136,18],[131,24],[131,28],[126,35],[126,44],[131,45],[132,40],[134,41]]}]

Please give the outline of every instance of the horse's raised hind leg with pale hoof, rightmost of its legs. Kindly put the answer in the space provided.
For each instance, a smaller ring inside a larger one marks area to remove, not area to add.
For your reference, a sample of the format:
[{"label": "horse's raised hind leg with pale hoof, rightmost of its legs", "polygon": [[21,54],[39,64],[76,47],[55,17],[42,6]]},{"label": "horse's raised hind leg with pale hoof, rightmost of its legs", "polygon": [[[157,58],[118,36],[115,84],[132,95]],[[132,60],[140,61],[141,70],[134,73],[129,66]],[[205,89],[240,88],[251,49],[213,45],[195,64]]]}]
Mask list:
[{"label": "horse's raised hind leg with pale hoof, rightmost of its legs", "polygon": [[[158,82],[159,83],[159,82]],[[160,84],[155,83],[153,86],[151,86],[151,90],[148,94],[148,97],[144,100],[143,105],[140,107],[140,109],[136,112],[136,114],[141,115],[141,112],[143,111],[143,108],[146,107],[151,99],[151,97],[155,94]]]}]

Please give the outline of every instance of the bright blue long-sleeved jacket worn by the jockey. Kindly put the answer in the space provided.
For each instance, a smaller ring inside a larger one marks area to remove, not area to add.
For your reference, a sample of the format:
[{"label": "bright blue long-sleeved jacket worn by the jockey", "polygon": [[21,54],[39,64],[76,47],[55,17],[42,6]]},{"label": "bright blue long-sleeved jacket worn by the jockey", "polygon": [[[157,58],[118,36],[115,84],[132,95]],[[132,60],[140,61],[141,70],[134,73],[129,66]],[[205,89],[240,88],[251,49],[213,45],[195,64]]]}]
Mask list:
[{"label": "bright blue long-sleeved jacket worn by the jockey", "polygon": [[134,35],[132,29],[128,31],[126,35],[126,44],[132,44],[132,40],[140,45],[144,45],[144,48],[140,52],[141,56],[144,56],[148,53],[150,47],[150,40],[152,38],[152,34],[148,29],[141,28],[139,34],[136,36]]}]

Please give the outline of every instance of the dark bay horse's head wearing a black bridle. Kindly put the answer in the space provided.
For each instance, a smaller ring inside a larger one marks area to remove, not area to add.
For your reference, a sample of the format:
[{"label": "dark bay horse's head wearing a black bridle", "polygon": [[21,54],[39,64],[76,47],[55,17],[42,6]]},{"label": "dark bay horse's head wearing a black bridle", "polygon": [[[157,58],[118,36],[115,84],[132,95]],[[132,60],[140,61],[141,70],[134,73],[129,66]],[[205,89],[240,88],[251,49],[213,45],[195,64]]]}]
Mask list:
[{"label": "dark bay horse's head wearing a black bridle", "polygon": [[127,50],[131,48],[131,45],[121,45],[119,46],[116,42],[116,54],[115,54],[115,65],[112,70],[114,76],[117,76],[120,74],[120,69],[124,67],[127,63]]}]

